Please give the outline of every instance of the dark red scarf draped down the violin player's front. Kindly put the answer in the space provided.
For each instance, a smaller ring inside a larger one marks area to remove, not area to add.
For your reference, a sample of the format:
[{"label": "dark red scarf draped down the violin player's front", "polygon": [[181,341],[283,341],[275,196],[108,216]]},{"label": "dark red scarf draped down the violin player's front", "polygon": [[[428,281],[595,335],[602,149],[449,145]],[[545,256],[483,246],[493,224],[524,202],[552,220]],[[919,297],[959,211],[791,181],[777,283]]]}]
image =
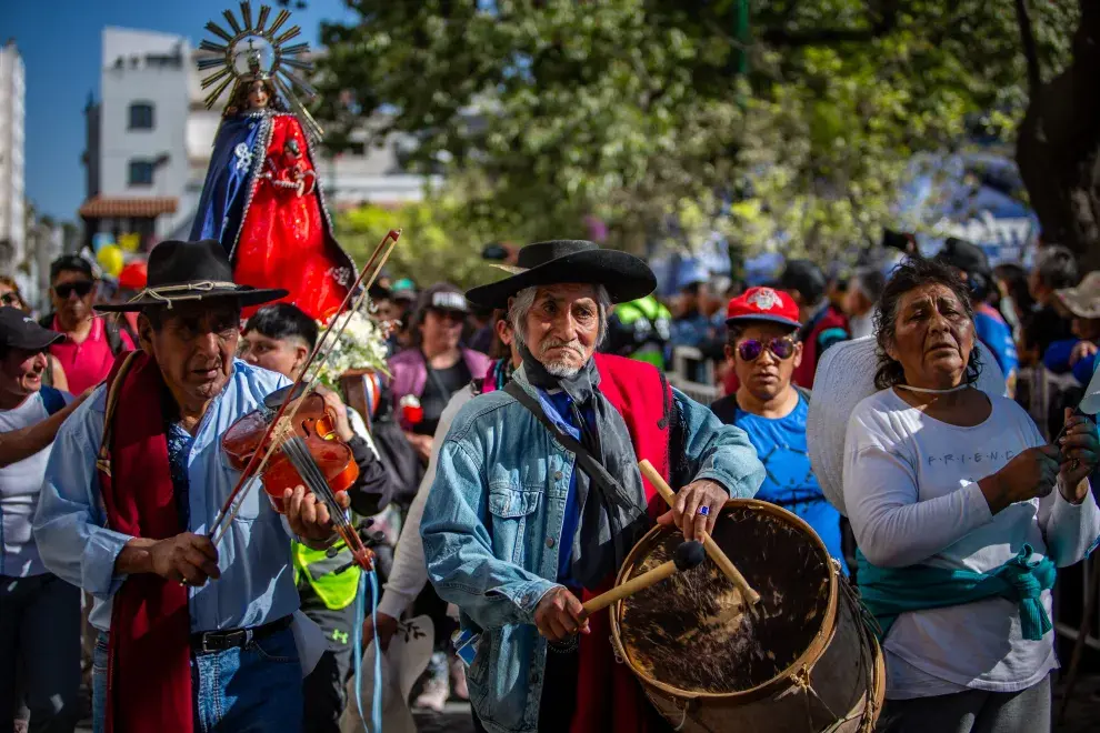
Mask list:
[{"label": "dark red scarf draped down the violin player's front", "polygon": [[[107,378],[99,484],[108,526],[163,540],[183,531],[159,405],[163,381],[142,352],[120,357]],[[106,459],[106,460],[102,460]],[[187,589],[130,575],[114,594],[108,649],[107,731],[191,733],[191,620]]]}]

